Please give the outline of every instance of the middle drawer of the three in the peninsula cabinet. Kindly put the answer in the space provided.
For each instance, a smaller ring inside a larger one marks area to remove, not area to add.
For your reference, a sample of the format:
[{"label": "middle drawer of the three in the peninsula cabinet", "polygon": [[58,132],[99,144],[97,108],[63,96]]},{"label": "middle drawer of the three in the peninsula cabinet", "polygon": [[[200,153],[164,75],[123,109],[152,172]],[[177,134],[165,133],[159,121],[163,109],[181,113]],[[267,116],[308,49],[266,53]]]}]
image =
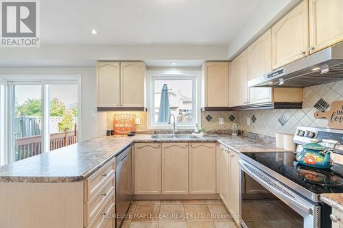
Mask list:
[{"label": "middle drawer of the three in the peninsula cabinet", "polygon": [[106,184],[99,189],[95,194],[95,197],[84,204],[84,224],[88,225],[91,220],[95,218],[99,210],[101,210],[104,203],[110,198],[115,192],[115,177],[109,179]]}]

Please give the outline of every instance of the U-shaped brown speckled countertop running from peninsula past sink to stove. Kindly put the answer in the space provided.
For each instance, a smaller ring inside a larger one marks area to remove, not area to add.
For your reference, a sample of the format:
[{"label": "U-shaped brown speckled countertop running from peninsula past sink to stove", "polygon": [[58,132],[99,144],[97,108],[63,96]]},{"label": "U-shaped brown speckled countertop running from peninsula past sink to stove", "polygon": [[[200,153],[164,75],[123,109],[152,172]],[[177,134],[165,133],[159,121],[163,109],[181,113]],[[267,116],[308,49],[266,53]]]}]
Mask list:
[{"label": "U-shaped brown speckled countertop running from peninsula past sink to stove", "polygon": [[95,173],[132,142],[220,142],[239,152],[283,151],[241,136],[152,139],[151,135],[104,136],[0,166],[0,182],[76,182]]}]

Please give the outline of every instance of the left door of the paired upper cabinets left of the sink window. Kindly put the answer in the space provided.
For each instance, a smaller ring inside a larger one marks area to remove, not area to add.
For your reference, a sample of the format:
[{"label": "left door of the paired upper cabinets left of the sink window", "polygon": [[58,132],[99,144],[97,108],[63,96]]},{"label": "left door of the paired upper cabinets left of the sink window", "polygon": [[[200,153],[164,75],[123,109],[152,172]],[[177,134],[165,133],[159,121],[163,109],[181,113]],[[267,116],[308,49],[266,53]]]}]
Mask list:
[{"label": "left door of the paired upper cabinets left of the sink window", "polygon": [[120,64],[99,62],[97,64],[97,107],[120,105]]}]

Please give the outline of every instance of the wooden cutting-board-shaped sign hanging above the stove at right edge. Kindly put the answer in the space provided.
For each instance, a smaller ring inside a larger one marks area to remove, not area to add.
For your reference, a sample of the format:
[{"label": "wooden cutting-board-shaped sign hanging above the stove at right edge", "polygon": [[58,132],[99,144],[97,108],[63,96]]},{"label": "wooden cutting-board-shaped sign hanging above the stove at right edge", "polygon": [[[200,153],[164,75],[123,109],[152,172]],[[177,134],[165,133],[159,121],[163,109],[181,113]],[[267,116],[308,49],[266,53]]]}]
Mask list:
[{"label": "wooden cutting-board-shaped sign hanging above the stove at right edge", "polygon": [[343,101],[333,101],[328,112],[317,111],[315,118],[327,118],[330,128],[343,129]]}]

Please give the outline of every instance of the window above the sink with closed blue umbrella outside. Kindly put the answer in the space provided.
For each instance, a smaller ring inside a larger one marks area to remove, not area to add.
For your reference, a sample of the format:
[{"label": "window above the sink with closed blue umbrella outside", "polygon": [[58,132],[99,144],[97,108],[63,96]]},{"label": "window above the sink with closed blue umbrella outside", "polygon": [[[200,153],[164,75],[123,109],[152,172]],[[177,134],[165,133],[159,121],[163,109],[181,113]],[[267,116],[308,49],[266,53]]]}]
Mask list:
[{"label": "window above the sink with closed blue umbrella outside", "polygon": [[[169,129],[169,114],[177,127],[198,123],[197,75],[152,75],[150,81],[150,127]],[[167,97],[167,104],[161,97]]]}]

